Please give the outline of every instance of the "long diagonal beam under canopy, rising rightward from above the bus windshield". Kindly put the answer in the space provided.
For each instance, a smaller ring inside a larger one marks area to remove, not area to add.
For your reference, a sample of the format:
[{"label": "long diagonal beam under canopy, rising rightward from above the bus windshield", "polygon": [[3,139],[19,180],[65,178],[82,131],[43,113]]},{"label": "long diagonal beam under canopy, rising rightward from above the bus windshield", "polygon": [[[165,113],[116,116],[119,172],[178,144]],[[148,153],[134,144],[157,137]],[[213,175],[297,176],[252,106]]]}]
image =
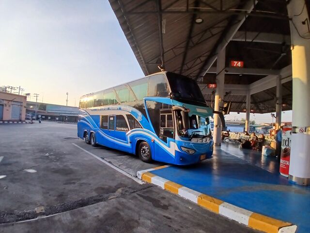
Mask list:
[{"label": "long diagonal beam under canopy, rising rightward from above the bus windshield", "polygon": [[[257,0],[255,0],[253,2],[253,0],[248,0],[246,2],[246,4],[243,7],[243,11],[245,11],[246,13],[250,13],[255,4],[257,3]],[[212,50],[211,54],[209,55],[209,57],[204,61],[202,68],[200,69],[200,71],[198,72],[198,75],[196,77],[196,79],[198,79],[200,76],[204,76],[206,74],[206,72],[209,70],[209,68],[212,66],[212,64],[215,62],[215,60],[217,59],[217,54],[225,49],[225,47],[227,46],[227,44],[231,41],[231,39],[233,38],[234,34],[238,31],[238,29],[241,27],[241,25],[243,24],[243,22],[245,21],[246,16],[245,15],[238,15],[235,20],[233,21],[237,21],[238,23],[234,24],[233,26],[231,25],[231,23],[229,23],[226,27],[226,29],[224,30],[222,36],[220,37],[220,39],[217,41],[217,45],[214,47],[214,50]]]}]

